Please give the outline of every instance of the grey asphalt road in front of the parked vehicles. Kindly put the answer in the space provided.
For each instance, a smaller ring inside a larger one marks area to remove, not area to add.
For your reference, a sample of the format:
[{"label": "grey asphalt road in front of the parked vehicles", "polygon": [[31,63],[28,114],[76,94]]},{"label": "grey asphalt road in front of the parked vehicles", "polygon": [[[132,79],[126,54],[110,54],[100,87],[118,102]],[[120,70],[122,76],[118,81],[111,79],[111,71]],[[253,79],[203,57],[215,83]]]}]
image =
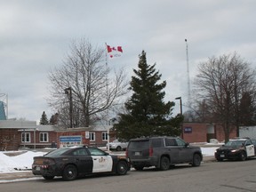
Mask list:
[{"label": "grey asphalt road in front of the parked vehicles", "polygon": [[0,184],[1,191],[26,192],[256,192],[256,159],[240,162],[210,162],[200,167],[176,166],[169,171],[156,169],[128,172],[124,176],[87,176],[78,180],[27,180]]}]

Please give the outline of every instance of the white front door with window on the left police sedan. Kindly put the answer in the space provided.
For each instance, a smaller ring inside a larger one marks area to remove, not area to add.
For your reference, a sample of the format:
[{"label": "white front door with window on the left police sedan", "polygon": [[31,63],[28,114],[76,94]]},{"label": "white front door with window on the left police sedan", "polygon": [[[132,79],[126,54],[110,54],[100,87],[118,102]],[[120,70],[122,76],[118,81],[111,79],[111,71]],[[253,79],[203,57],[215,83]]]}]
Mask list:
[{"label": "white front door with window on the left police sedan", "polygon": [[99,148],[88,148],[92,156],[92,172],[111,172],[113,167],[112,157]]}]

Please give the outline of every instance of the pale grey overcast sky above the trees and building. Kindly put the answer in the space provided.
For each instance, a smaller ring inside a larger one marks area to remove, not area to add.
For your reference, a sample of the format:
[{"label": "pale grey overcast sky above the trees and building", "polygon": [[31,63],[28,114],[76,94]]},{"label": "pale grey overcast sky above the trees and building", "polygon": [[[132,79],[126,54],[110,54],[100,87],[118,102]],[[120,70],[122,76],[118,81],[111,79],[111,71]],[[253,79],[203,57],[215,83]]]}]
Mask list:
[{"label": "pale grey overcast sky above the trees and building", "polygon": [[[188,99],[197,66],[209,57],[237,52],[256,67],[255,0],[0,0],[0,93],[8,94],[8,117],[48,119],[48,74],[60,66],[71,41],[121,45],[109,66],[129,76],[139,54],[166,80],[165,100]],[[1,95],[1,94],[0,94]],[[0,100],[5,100],[0,97]]]}]

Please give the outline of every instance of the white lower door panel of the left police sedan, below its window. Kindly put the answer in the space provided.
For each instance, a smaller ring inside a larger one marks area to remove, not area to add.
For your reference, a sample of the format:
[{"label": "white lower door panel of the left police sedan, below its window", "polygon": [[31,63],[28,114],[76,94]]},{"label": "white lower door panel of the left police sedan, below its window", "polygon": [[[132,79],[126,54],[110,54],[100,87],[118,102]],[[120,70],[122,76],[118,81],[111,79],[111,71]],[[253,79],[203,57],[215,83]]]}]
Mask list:
[{"label": "white lower door panel of the left police sedan, below its window", "polygon": [[92,156],[92,172],[111,172],[113,160],[111,156]]}]

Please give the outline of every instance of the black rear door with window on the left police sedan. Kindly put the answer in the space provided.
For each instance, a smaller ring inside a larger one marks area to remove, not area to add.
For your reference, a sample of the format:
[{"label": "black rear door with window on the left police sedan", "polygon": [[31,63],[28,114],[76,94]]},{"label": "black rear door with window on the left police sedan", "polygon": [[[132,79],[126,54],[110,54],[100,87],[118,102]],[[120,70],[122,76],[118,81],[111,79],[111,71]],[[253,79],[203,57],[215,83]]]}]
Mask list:
[{"label": "black rear door with window on the left police sedan", "polygon": [[86,148],[77,148],[72,152],[79,173],[92,173],[92,157]]}]

